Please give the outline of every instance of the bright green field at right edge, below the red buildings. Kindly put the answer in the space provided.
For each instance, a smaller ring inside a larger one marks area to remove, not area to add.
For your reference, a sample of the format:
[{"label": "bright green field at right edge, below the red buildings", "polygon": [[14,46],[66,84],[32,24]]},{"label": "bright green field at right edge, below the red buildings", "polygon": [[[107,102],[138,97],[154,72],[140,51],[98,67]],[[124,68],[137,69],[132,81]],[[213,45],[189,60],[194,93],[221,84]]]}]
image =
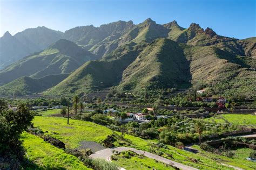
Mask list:
[{"label": "bright green field at right edge, below the red buildings", "polygon": [[228,121],[229,123],[232,123],[232,124],[245,125],[248,127],[256,128],[255,115],[224,114],[224,115],[213,116],[206,120],[217,122],[217,123],[225,123],[225,121]]}]

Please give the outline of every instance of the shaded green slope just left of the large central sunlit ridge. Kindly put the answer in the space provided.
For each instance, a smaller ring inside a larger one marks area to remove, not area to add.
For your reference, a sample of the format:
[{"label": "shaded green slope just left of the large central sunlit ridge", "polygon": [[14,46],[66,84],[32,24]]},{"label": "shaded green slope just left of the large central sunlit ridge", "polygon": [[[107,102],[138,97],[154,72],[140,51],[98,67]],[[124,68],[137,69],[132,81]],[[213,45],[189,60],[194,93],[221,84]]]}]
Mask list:
[{"label": "shaded green slope just left of the large central sunlit ridge", "polygon": [[[123,70],[133,62],[144,46],[134,44],[119,47],[101,61],[89,61],[79,67],[57,86],[45,91],[45,95],[84,94],[89,91],[117,86]],[[118,56],[118,57],[117,57]]]}]

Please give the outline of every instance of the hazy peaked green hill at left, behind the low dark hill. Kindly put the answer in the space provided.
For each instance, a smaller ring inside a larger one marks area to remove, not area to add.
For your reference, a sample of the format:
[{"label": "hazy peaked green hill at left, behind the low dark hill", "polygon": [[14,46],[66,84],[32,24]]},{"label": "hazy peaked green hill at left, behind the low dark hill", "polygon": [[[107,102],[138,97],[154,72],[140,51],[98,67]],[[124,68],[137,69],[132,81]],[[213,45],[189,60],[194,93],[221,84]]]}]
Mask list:
[{"label": "hazy peaked green hill at left, behind the low dark hill", "polygon": [[60,39],[41,53],[30,55],[0,72],[0,84],[6,84],[21,76],[35,78],[50,74],[66,74],[94,56],[75,43]]}]

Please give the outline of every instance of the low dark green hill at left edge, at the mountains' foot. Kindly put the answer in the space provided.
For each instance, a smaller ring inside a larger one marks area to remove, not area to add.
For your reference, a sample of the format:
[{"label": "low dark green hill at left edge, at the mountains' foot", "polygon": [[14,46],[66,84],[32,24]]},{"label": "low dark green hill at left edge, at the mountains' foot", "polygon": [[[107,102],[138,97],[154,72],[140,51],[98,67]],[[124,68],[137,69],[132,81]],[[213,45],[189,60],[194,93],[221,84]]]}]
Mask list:
[{"label": "low dark green hill at left edge, at the mountains' foot", "polygon": [[47,75],[40,79],[33,79],[28,76],[18,79],[0,87],[0,95],[28,95],[42,92],[48,88],[56,86],[69,74]]}]

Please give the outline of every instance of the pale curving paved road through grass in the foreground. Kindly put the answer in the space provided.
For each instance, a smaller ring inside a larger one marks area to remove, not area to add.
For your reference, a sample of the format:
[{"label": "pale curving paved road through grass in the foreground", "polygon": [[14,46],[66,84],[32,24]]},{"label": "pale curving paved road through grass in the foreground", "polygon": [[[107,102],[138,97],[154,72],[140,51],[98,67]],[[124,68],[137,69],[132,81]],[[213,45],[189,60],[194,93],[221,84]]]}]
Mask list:
[{"label": "pale curving paved road through grass in the foreground", "polygon": [[173,166],[176,166],[177,168],[184,169],[184,170],[197,169],[197,168],[193,168],[193,167],[190,167],[190,166],[187,166],[187,165],[180,164],[180,163],[172,161],[170,159],[166,159],[164,157],[160,157],[159,155],[156,155],[156,154],[153,154],[153,153],[150,153],[150,152],[146,152],[146,151],[142,151],[142,150],[136,150],[136,149],[131,148],[131,147],[106,148],[105,150],[101,150],[101,151],[98,151],[98,152],[95,152],[95,153],[91,154],[90,157],[93,158],[93,159],[102,158],[102,159],[105,159],[107,161],[110,161],[110,156],[113,154],[112,153],[113,150],[116,150],[116,151],[119,151],[119,152],[133,151],[133,152],[136,152],[137,154],[144,154],[145,157],[152,158],[152,159],[158,160],[160,162],[164,162],[165,164],[173,165]]}]

